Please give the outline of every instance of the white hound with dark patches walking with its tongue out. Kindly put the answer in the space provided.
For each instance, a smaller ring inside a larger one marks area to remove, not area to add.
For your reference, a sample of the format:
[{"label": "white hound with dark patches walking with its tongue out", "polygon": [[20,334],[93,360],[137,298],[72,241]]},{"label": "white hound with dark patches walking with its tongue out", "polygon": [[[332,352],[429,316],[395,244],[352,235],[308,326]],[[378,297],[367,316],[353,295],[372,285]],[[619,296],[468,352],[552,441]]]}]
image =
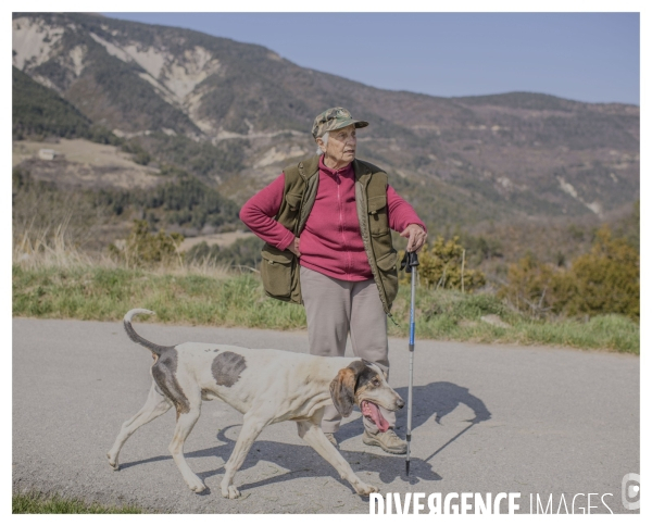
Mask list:
[{"label": "white hound with dark patches walking with its tongue out", "polygon": [[234,485],[236,472],[244,462],[259,434],[269,424],[294,421],[299,436],[326,459],[359,494],[378,489],[363,483],[349,463],[328,441],[322,428],[324,408],[334,403],[342,416],[349,416],[353,405],[365,409],[378,427],[384,419],[377,406],[397,411],[404,405],[401,397],[387,384],[380,368],[364,360],[323,358],[275,349],[246,349],[214,343],[181,343],[163,347],[146,340],[131,327],[136,314],[153,314],[133,309],[124,318],[131,340],[152,352],[152,387],[142,409],[122,425],[111,451],[109,464],[118,469],[117,456],[136,429],[161,416],[174,405],[176,429],[170,452],[192,491],[205,489],[184,458],[184,442],[201,412],[202,400],[220,398],[243,413],[240,436],[226,463],[222,494],[229,499],[240,496]]}]

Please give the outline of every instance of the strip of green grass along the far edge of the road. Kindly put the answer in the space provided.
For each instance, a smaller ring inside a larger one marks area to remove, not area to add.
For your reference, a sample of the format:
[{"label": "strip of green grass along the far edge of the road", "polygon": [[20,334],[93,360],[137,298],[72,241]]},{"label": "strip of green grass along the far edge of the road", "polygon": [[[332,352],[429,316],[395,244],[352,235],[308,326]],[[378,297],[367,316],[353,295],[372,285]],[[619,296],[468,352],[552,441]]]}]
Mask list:
[{"label": "strip of green grass along the far edge of the road", "polygon": [[[305,328],[302,306],[265,297],[258,276],[173,274],[101,266],[13,265],[13,315],[46,318],[120,321],[133,308],[150,309],[155,322]],[[410,287],[403,286],[389,322],[390,336],[408,336]],[[506,327],[484,322],[494,315]],[[145,321],[146,318],[140,318]],[[464,295],[419,288],[416,336],[456,341],[521,343],[604,349],[640,353],[639,325],[620,315],[588,322],[534,321],[489,293]]]}]

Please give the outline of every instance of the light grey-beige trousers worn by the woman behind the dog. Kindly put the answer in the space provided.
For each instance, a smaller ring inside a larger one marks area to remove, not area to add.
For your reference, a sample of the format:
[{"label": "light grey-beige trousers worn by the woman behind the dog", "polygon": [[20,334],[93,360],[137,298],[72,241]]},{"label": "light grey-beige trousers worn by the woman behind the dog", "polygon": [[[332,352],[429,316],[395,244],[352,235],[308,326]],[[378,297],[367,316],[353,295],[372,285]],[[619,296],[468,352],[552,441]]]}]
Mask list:
[{"label": "light grey-beige trousers worn by the woman behind the dog", "polygon": [[[347,335],[351,333],[353,354],[389,371],[387,315],[373,279],[343,281],[301,267],[301,296],[308,317],[310,353],[318,356],[343,356]],[[396,415],[380,408],[383,416],[394,427]],[[327,405],[322,419],[324,433],[338,430],[341,415]],[[376,433],[374,423],[363,417],[365,428]]]}]

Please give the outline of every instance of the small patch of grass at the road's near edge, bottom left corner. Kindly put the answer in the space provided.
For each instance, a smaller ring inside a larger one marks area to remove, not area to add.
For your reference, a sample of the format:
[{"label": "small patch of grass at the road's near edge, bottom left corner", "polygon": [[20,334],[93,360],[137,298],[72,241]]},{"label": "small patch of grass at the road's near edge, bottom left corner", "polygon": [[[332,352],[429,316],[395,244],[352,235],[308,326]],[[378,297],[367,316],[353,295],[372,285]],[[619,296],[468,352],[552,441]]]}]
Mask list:
[{"label": "small patch of grass at the road's near edge, bottom left corner", "polygon": [[37,491],[27,493],[13,493],[11,497],[11,512],[13,514],[29,513],[146,513],[133,505],[106,506],[92,502],[90,504],[80,499],[66,499],[59,494],[46,496]]}]

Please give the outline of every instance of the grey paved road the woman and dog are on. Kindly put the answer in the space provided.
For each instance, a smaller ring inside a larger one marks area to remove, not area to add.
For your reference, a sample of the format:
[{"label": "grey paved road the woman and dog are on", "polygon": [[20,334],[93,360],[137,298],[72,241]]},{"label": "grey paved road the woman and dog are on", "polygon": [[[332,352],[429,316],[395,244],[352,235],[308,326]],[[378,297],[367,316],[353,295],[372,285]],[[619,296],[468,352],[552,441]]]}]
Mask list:
[{"label": "grey paved road the woman and dog are on", "polygon": [[[136,324],[159,343],[224,342],[305,352],[304,333]],[[350,353],[350,351],[348,351]],[[406,396],[406,340],[390,339],[391,383]],[[367,513],[368,501],[297,436],[293,423],[266,428],[236,478],[242,498],[223,499],[223,465],[241,415],[206,402],[186,442],[190,467],[210,488],[193,494],[167,443],[174,412],[142,427],[113,472],[105,452],[143,403],[148,351],[118,323],[13,321],[13,485],[105,503],[178,513]],[[417,341],[411,478],[404,458],[364,446],[360,412],[340,429],[343,455],[381,492],[613,493],[639,471],[639,360],[566,349]],[[399,426],[405,426],[403,410]],[[400,430],[401,431],[401,430]],[[534,497],[536,502],[536,497]],[[593,513],[607,512],[592,497]],[[578,497],[586,506],[586,497]],[[563,506],[562,506],[563,512]]]}]

